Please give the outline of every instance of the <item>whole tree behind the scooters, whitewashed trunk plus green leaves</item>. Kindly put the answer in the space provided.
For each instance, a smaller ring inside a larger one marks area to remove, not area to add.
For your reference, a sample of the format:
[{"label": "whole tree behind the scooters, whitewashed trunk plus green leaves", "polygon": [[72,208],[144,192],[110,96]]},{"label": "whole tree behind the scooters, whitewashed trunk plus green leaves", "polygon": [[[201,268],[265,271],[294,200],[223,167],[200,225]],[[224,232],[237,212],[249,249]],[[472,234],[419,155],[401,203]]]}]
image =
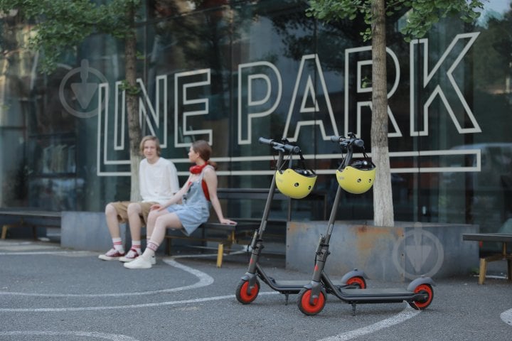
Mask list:
[{"label": "whole tree behind the scooters, whitewashed trunk plus green leaves", "polygon": [[479,17],[484,4],[479,0],[310,0],[307,16],[321,21],[341,21],[363,18],[365,40],[372,40],[372,158],[377,166],[373,185],[373,212],[376,226],[393,226],[393,197],[391,193],[388,149],[388,97],[386,71],[386,16],[405,13],[405,26],[400,30],[406,41],[422,38],[439,18],[458,16],[472,23]]}]

